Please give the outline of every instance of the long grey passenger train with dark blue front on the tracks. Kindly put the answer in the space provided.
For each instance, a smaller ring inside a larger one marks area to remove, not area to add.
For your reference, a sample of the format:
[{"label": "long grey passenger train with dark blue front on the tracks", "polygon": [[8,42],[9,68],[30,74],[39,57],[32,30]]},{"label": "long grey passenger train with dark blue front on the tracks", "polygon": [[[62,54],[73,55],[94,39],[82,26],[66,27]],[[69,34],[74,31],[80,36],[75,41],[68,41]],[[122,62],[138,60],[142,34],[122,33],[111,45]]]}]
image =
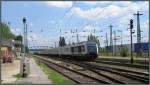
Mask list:
[{"label": "long grey passenger train with dark blue front on the tracks", "polygon": [[51,48],[35,54],[78,60],[94,60],[98,57],[98,46],[93,41],[84,41],[64,47]]}]

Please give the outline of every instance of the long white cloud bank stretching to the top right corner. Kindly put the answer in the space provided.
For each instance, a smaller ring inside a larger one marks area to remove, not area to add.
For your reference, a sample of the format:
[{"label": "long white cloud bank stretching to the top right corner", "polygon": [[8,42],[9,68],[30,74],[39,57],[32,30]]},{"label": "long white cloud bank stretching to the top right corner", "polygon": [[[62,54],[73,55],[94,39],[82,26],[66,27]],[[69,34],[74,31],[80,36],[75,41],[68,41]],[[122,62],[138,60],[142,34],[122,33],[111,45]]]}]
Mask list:
[{"label": "long white cloud bank stretching to the top right corner", "polygon": [[[120,6],[119,4],[124,6]],[[112,3],[105,7],[95,7],[95,8],[90,8],[88,10],[83,10],[79,7],[74,7],[71,10],[71,14],[74,14],[76,16],[85,19],[100,20],[100,19],[109,19],[111,17],[126,16],[131,13],[135,13],[138,10],[148,11],[148,2],[140,2],[140,3],[116,2],[114,4]]]}]

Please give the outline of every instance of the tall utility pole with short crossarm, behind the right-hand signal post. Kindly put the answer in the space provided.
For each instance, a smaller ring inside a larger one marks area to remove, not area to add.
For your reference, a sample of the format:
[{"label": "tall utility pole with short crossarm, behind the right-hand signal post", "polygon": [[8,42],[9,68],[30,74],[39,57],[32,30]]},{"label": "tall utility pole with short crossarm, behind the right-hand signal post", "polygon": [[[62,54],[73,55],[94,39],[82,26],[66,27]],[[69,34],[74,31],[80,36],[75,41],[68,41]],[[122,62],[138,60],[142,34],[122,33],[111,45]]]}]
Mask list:
[{"label": "tall utility pole with short crossarm, behind the right-hand signal post", "polygon": [[139,11],[137,11],[136,14],[134,14],[137,16],[137,44],[139,45],[139,52],[137,52],[137,54],[140,54],[140,56],[142,55],[142,49],[141,49],[141,29],[140,29],[140,17],[143,14],[140,14]]}]

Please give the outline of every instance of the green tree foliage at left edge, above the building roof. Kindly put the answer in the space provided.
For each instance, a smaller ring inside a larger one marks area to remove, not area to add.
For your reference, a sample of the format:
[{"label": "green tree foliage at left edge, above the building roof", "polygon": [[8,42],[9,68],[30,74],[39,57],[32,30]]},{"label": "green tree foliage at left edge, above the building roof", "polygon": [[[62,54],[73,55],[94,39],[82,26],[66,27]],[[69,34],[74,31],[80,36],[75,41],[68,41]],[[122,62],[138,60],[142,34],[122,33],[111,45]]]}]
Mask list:
[{"label": "green tree foliage at left edge, above the building roof", "polygon": [[15,35],[10,31],[10,27],[6,23],[0,23],[0,35],[1,39],[9,40],[14,39]]}]

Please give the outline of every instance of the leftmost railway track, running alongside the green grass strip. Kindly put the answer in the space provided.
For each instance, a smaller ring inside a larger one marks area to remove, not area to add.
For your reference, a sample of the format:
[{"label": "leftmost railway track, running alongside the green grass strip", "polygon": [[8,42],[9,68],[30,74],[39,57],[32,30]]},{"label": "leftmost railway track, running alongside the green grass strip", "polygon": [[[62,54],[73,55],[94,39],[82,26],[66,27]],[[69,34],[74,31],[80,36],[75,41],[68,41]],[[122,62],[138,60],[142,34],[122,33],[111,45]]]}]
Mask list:
[{"label": "leftmost railway track, running alongside the green grass strip", "polygon": [[107,81],[103,81],[100,80],[98,78],[95,77],[91,77],[89,75],[83,74],[79,71],[70,69],[68,67],[59,65],[57,63],[53,63],[49,60],[43,59],[43,58],[39,58],[38,60],[40,60],[42,63],[44,63],[45,65],[47,65],[48,67],[52,68],[53,70],[61,73],[62,75],[66,76],[67,78],[73,80],[76,83],[79,84],[83,84],[83,83],[103,83],[103,84],[110,84]]}]

